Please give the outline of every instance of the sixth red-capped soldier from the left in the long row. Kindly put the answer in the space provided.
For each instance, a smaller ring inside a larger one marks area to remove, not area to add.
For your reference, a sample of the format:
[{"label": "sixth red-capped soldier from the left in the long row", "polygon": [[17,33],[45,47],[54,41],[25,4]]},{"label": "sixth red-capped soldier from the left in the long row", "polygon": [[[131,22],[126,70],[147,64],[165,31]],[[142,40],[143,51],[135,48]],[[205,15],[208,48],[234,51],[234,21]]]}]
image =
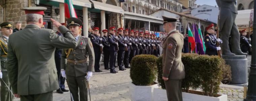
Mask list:
[{"label": "sixth red-capped soldier from the left in the long row", "polygon": [[129,57],[129,64],[131,63],[132,58],[136,55],[136,52],[138,51],[138,44],[137,44],[137,40],[133,35],[134,31],[131,30],[130,32],[130,39],[131,39],[131,43],[132,43],[132,50],[130,52],[130,57]]}]

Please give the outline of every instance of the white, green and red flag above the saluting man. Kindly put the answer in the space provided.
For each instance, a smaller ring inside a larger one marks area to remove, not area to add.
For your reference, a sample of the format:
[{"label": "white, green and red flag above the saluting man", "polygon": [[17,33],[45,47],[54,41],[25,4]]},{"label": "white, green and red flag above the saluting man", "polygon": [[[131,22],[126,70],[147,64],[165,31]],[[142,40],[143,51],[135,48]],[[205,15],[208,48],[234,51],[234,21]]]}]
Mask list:
[{"label": "white, green and red flag above the saluting man", "polygon": [[77,18],[72,0],[65,0],[65,17],[68,19],[70,17]]}]

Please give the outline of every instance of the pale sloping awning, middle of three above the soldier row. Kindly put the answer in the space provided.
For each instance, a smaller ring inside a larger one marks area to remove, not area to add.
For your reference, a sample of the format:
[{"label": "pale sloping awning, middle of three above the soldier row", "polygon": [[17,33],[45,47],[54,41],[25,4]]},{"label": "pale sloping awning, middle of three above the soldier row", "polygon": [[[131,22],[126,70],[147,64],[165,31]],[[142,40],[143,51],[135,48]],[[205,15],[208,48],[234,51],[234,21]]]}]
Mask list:
[{"label": "pale sloping awning, middle of three above the soldier row", "polygon": [[124,14],[124,10],[119,6],[110,5],[110,4],[93,1],[93,0],[91,1],[93,2],[94,8],[96,9]]}]

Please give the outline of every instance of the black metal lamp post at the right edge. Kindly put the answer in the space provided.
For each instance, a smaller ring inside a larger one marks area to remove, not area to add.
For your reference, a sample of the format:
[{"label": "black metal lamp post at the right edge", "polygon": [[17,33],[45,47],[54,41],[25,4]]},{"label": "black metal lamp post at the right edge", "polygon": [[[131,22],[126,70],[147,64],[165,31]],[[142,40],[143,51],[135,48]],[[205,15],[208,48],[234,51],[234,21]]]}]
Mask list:
[{"label": "black metal lamp post at the right edge", "polygon": [[[256,5],[256,2],[254,2]],[[251,67],[249,73],[249,82],[248,82],[248,91],[247,96],[244,101],[256,101],[256,6],[254,6],[253,11],[253,38],[252,40],[252,60],[251,60]]]}]

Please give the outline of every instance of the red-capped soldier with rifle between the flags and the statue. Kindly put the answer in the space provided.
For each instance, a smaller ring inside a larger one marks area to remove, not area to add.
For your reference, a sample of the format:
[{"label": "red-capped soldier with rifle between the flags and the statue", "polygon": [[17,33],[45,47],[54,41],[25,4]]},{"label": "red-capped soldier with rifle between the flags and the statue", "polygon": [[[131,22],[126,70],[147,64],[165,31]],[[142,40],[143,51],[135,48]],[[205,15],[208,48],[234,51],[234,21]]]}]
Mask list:
[{"label": "red-capped soldier with rifle between the flags and the statue", "polygon": [[206,46],[206,55],[218,55],[217,50],[220,50],[220,47],[217,47],[217,41],[220,42],[220,39],[214,37],[214,25],[211,24],[206,27],[207,35],[204,37],[204,44]]}]

